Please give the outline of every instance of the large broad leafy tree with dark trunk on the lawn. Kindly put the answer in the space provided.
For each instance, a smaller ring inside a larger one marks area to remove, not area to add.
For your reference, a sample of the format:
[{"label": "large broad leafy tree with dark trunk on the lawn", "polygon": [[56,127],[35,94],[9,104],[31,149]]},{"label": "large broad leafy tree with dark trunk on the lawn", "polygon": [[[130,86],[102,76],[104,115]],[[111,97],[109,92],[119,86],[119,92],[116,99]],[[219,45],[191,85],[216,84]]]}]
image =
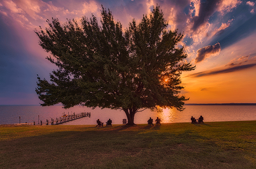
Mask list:
[{"label": "large broad leafy tree with dark trunk on the lawn", "polygon": [[187,99],[179,94],[180,75],[195,67],[183,62],[187,55],[177,47],[183,35],[167,30],[163,15],[156,6],[139,24],[133,19],[124,32],[103,6],[101,26],[93,15],[83,17],[81,26],[74,19],[63,25],[58,19],[48,20],[49,28],[35,33],[58,69],[50,74],[51,82],[38,76],[41,105],[122,109],[128,125],[145,109],[183,110]]}]

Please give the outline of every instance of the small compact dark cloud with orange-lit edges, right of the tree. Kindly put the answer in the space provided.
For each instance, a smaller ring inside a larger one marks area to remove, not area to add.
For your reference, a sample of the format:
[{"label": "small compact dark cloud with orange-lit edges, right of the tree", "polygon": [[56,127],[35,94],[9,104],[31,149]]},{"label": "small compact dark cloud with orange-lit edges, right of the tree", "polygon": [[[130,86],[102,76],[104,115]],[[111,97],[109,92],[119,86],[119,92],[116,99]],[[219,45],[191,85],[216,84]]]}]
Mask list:
[{"label": "small compact dark cloud with orange-lit edges, right of the tree", "polygon": [[204,59],[209,58],[210,56],[219,54],[220,49],[221,47],[219,43],[216,43],[213,46],[209,45],[209,46],[198,49],[195,63],[201,62]]}]

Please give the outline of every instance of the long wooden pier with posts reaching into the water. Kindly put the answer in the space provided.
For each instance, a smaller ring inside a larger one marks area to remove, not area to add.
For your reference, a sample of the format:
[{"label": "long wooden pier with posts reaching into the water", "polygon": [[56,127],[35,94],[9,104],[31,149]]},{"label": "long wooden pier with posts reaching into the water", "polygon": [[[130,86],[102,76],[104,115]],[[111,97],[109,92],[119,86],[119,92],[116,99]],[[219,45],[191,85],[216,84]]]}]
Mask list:
[{"label": "long wooden pier with posts reaching into the water", "polygon": [[[76,119],[79,119],[79,118],[82,118],[82,117],[91,117],[91,112],[82,112],[82,113],[78,113],[78,114],[71,114],[71,115],[65,115],[63,114],[63,116],[61,116],[60,118],[56,118],[56,120],[54,121],[54,119],[52,118],[51,121],[49,120],[46,120],[46,123],[43,123],[42,120],[41,122],[39,123],[38,121],[38,124],[36,124],[35,122],[33,123],[17,123],[15,125],[58,125],[58,124],[62,124],[62,123],[66,123],[66,122],[69,122],[69,121],[73,121],[73,120],[76,120]],[[39,116],[38,116],[38,119],[39,119]]]}]

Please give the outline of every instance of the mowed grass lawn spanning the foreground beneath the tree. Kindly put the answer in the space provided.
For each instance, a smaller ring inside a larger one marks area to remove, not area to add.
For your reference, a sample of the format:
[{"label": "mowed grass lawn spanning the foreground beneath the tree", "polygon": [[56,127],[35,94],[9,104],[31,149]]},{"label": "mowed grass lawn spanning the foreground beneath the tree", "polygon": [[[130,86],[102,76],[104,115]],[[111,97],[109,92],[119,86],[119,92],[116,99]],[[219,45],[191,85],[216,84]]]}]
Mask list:
[{"label": "mowed grass lawn spanning the foreground beneath the tree", "polygon": [[256,168],[256,121],[95,126],[0,126],[0,168]]}]

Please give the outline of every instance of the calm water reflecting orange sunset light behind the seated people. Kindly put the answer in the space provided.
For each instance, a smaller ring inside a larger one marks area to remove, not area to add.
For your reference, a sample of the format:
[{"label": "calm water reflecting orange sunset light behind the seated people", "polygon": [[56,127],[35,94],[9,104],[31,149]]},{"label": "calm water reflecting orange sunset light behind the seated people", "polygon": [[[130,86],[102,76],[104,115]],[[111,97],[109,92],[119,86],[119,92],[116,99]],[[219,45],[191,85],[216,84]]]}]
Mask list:
[{"label": "calm water reflecting orange sunset light behind the seated people", "polygon": [[[176,109],[165,109],[162,112],[144,110],[135,114],[134,123],[146,123],[148,118],[153,120],[156,117],[161,118],[162,123],[177,123],[177,122],[191,122],[190,117],[199,118],[204,117],[204,122],[213,121],[247,121],[256,120],[256,106],[184,106],[184,111],[180,112]],[[38,120],[46,122],[52,118],[60,118],[65,114],[78,114],[81,112],[91,112],[91,117],[80,118],[71,122],[64,123],[63,125],[81,125],[81,124],[96,124],[99,118],[102,122],[106,122],[109,118],[113,124],[122,124],[122,119],[126,118],[123,111],[100,109],[75,106],[70,109],[63,109],[62,106],[49,106],[42,107],[38,105],[0,105],[0,124],[15,124],[19,123],[32,123]],[[39,116],[39,117],[38,117]]]}]

